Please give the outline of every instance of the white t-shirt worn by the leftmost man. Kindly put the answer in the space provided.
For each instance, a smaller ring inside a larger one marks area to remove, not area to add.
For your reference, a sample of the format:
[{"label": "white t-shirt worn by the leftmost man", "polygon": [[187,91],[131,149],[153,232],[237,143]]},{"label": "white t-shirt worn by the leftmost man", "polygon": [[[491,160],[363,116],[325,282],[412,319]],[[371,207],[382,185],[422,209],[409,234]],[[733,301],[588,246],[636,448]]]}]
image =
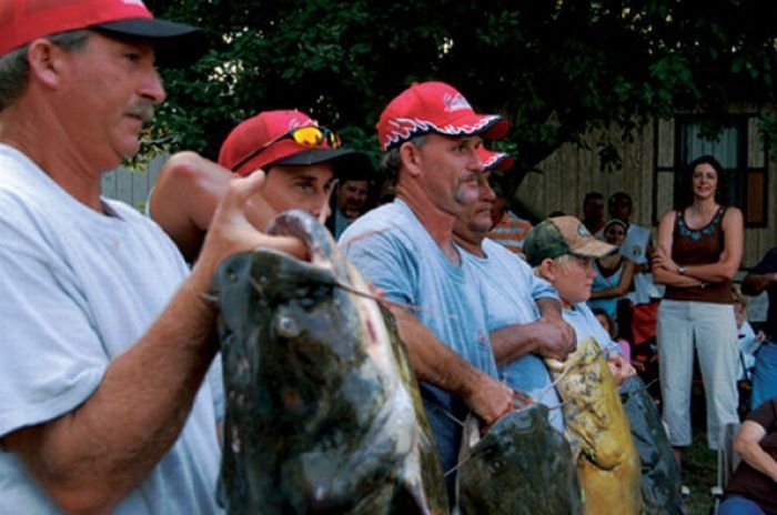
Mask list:
[{"label": "white t-shirt worn by the leftmost man", "polygon": [[[103,203],[112,215],[75,201],[0,144],[0,435],[84,402],[188,273],[157,224],[120,202]],[[113,513],[219,513],[213,421],[205,383],[179,440]],[[0,513],[59,513],[8,452],[0,452]]]}]

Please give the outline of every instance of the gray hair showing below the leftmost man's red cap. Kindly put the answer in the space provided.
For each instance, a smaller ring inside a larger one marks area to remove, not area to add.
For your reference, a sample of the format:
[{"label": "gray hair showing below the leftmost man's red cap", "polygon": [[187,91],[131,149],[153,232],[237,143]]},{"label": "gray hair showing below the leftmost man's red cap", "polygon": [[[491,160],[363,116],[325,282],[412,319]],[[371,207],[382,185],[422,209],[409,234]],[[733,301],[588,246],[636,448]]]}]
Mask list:
[{"label": "gray hair showing below the leftmost man's red cap", "polygon": [[[64,50],[79,50],[90,36],[87,29],[69,30],[48,37],[48,40]],[[0,111],[10,107],[27,89],[30,80],[30,63],[27,60],[29,44],[0,55]]]}]

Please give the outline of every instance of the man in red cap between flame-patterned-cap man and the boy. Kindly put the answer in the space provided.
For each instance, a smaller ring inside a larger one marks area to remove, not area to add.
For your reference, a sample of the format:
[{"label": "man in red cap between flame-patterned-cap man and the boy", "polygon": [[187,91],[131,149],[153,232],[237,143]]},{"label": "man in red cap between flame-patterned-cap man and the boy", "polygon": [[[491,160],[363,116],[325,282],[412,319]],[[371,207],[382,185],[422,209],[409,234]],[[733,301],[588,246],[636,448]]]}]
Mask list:
[{"label": "man in red cap between flame-patterned-cap man and the boy", "polygon": [[478,155],[485,166],[481,196],[456,216],[453,236],[466,251],[465,262],[481,285],[491,345],[502,378],[552,408],[549,422],[564,431],[561,398],[543,357],[564,360],[575,347],[575,331],[562,319],[555,289],[537,277],[523,259],[487,238],[496,199],[491,188],[492,171],[508,171],[513,158],[482,147]]}]

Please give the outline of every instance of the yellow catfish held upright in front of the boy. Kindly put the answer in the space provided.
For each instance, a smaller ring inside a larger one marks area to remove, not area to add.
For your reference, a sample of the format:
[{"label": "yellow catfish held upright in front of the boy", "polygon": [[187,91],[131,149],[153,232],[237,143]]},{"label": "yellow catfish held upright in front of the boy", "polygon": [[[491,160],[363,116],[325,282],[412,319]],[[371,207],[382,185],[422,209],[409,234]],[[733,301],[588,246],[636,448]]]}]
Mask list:
[{"label": "yellow catfish held upright in front of the boy", "polygon": [[586,513],[638,514],[643,504],[639,456],[599,346],[587,337],[565,362],[547,362],[558,378],[566,436],[577,451]]}]

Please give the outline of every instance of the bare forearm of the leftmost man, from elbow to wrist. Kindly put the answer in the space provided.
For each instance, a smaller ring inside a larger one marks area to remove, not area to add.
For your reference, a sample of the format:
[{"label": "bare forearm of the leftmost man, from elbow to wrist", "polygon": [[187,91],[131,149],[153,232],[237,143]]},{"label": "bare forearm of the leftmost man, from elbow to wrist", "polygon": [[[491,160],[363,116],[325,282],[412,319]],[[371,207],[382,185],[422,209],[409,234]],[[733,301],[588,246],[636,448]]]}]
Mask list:
[{"label": "bare forearm of the leftmost man, from elbow to wrist", "polygon": [[216,352],[200,287],[184,282],[78,408],[3,438],[67,512],[109,512],[178,438]]}]

